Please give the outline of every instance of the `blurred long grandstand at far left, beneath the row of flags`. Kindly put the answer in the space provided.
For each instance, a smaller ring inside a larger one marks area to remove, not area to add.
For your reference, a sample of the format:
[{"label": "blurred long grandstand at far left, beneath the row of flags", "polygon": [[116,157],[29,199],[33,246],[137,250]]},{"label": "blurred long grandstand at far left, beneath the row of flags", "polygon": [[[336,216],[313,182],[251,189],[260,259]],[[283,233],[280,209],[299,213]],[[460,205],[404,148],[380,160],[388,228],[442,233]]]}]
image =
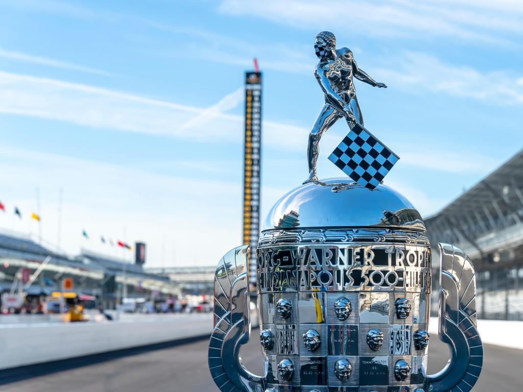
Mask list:
[{"label": "blurred long grandstand at far left, beneath the row of flags", "polygon": [[[70,257],[30,238],[0,234],[0,293],[21,291],[32,301],[52,292],[72,291],[96,297],[97,304],[106,309],[114,309],[122,298],[155,301],[180,293],[168,276],[146,272],[143,258],[137,261],[133,264],[87,250]],[[43,266],[44,262],[47,264]],[[28,282],[39,267],[43,268],[37,279]],[[63,289],[64,280],[70,285],[67,289]]]}]

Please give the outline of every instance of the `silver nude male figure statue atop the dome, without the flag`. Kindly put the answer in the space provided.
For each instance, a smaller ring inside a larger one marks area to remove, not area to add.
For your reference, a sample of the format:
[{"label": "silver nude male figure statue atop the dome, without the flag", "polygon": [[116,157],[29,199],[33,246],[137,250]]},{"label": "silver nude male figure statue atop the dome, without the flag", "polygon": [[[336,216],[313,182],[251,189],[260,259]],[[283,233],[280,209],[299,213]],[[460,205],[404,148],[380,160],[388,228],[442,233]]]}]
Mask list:
[{"label": "silver nude male figure statue atop the dome, without the flag", "polygon": [[325,94],[325,105],[309,135],[307,150],[309,178],[304,183],[317,181],[318,144],[326,130],[343,117],[347,120],[350,129],[355,124],[363,126],[363,117],[356,98],[353,77],[374,87],[387,87],[384,83],[376,82],[358,68],[350,49],[336,49],[336,37],[332,32],[322,31],[317,34],[314,51],[320,59],[314,76]]}]

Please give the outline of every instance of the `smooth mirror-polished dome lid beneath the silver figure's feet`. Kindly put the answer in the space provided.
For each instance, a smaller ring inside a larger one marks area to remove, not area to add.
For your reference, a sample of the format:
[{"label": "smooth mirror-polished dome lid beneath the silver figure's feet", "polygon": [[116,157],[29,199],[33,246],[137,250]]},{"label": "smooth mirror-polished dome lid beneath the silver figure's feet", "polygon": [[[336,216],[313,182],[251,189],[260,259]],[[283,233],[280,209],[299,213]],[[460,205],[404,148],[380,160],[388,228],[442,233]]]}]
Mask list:
[{"label": "smooth mirror-polished dome lid beneath the silver figure's feet", "polygon": [[399,227],[425,232],[419,212],[402,194],[382,184],[370,190],[346,178],[294,188],[272,206],[261,231],[327,227]]}]

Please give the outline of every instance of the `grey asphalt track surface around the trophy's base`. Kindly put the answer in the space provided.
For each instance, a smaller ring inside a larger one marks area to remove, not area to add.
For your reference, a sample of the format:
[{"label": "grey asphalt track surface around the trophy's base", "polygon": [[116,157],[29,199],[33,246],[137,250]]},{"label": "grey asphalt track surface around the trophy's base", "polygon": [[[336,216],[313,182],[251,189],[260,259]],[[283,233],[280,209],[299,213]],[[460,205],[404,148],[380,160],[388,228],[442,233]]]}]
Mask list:
[{"label": "grey asphalt track surface around the trophy's base", "polygon": [[[242,348],[245,366],[262,374],[258,331]],[[9,392],[217,392],[207,367],[207,340],[149,351],[73,370],[6,384]],[[437,337],[429,345],[428,372],[436,373],[448,360],[446,345]],[[523,350],[485,345],[480,379],[473,392],[523,390]]]}]

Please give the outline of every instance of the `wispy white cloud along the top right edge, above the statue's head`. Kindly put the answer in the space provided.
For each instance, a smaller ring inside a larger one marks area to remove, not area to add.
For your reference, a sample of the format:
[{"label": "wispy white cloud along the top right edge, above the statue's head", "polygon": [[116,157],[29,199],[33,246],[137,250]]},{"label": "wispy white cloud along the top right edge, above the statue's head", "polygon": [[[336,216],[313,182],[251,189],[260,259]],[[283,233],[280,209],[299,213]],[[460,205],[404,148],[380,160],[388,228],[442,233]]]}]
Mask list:
[{"label": "wispy white cloud along the top right edge, above the statue's head", "polygon": [[329,26],[371,36],[418,38],[453,37],[482,43],[511,43],[506,33],[523,34],[519,2],[502,1],[498,7],[488,2],[458,0],[333,0],[328,5],[316,1],[267,0],[244,2],[224,0],[219,9],[230,15],[265,18],[283,25],[323,29]]}]

